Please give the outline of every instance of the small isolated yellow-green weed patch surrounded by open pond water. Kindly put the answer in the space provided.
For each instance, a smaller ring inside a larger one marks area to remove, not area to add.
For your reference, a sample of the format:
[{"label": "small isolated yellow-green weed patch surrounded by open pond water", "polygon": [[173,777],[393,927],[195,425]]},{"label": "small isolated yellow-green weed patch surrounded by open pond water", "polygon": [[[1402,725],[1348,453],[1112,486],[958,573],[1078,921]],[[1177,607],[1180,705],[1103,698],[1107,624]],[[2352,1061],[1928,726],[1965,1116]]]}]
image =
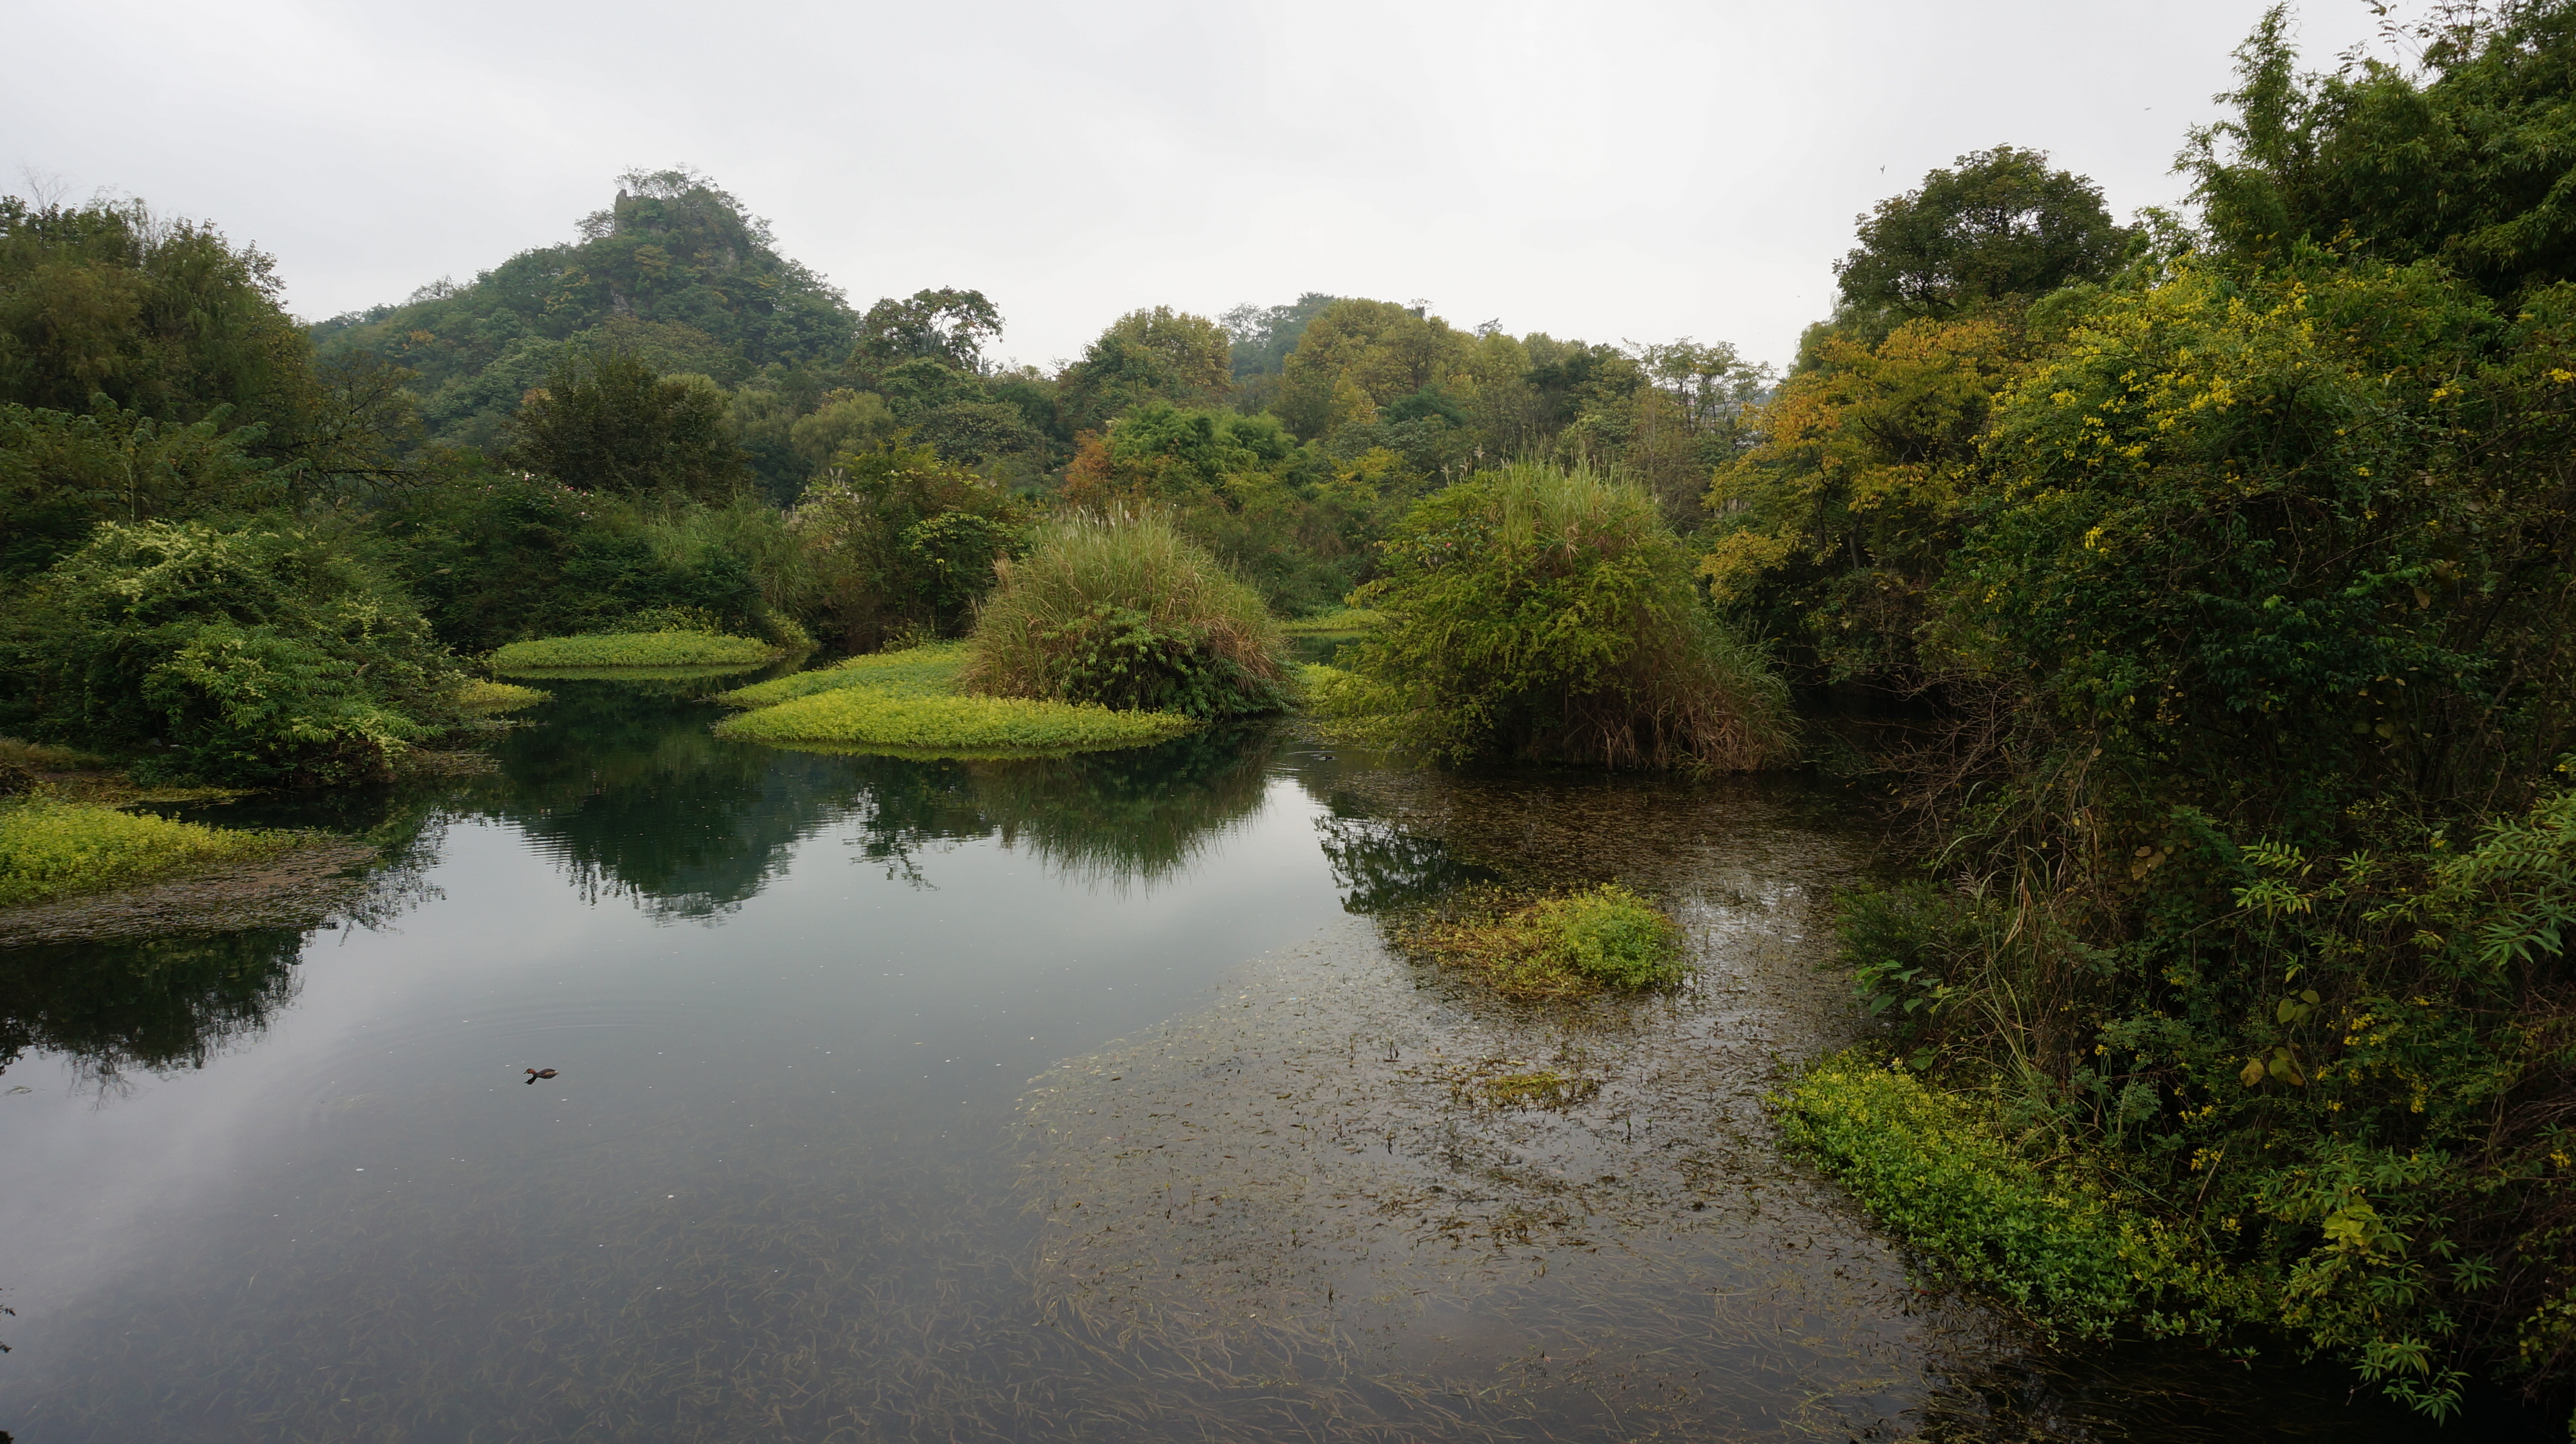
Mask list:
[{"label": "small isolated yellow-green weed patch surrounded by open pond water", "polygon": [[1618,883],[1540,898],[1471,888],[1443,911],[1396,924],[1396,945],[1484,973],[1494,991],[1512,999],[1651,988],[1685,970],[1680,924]]}]

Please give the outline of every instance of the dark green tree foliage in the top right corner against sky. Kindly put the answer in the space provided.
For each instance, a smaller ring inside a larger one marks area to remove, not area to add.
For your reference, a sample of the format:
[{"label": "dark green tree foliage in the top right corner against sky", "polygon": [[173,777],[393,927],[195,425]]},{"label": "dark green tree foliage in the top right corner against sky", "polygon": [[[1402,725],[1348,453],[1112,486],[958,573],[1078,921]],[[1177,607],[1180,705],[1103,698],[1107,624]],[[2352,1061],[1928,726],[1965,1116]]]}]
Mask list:
[{"label": "dark green tree foliage in the top right corner against sky", "polygon": [[2442,260],[2496,296],[2576,278],[2576,8],[2442,5],[2396,39],[2419,72],[2298,75],[2287,8],[2264,15],[2236,51],[2236,118],[2182,157],[2213,237],[2269,260],[2300,242]]}]

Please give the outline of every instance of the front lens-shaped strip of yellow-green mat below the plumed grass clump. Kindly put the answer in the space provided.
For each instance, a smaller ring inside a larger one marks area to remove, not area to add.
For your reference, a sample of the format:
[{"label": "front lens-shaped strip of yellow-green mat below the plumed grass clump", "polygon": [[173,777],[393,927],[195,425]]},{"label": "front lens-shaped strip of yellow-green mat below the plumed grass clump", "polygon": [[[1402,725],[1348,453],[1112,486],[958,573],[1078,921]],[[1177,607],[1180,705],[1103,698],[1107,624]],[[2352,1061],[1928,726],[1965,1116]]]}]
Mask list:
[{"label": "front lens-shaped strip of yellow-green mat below the plumed grass clump", "polygon": [[997,757],[1144,746],[1190,731],[1177,713],[1121,713],[1030,698],[902,695],[835,687],[716,723],[716,736],[876,752]]}]

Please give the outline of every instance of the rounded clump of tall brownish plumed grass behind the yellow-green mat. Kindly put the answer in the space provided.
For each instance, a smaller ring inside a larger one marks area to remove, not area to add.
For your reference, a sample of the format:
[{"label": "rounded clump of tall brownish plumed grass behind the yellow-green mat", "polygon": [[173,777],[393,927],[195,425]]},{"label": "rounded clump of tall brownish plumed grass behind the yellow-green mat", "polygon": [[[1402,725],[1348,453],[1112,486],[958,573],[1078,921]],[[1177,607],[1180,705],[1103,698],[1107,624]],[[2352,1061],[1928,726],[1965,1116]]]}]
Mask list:
[{"label": "rounded clump of tall brownish plumed grass behind the yellow-green mat", "polygon": [[1159,512],[1054,523],[997,569],[976,607],[969,692],[1188,718],[1285,705],[1270,607]]}]

